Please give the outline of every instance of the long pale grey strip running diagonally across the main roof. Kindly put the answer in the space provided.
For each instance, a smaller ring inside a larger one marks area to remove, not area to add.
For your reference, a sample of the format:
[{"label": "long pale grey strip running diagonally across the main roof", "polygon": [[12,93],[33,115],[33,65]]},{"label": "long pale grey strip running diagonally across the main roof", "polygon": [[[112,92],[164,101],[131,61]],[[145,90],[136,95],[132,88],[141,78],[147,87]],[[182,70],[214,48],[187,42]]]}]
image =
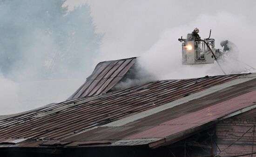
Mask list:
[{"label": "long pale grey strip running diagonally across the main roof", "polygon": [[220,90],[222,90],[224,88],[228,88],[228,87],[231,87],[231,86],[243,83],[243,82],[247,82],[247,81],[253,80],[255,78],[256,77],[237,78],[237,79],[232,80],[230,82],[225,82],[225,83],[216,85],[214,87],[205,89],[203,91],[200,91],[198,93],[188,95],[188,96],[186,96],[184,98],[181,98],[181,99],[178,99],[178,100],[174,100],[174,101],[169,102],[169,103],[167,103],[165,105],[162,105],[162,106],[159,106],[159,107],[155,107],[155,108],[149,109],[147,111],[143,111],[141,113],[137,113],[137,114],[131,115],[129,117],[126,117],[126,118],[123,118],[123,119],[120,119],[120,120],[116,120],[114,122],[111,122],[111,123],[108,123],[106,125],[103,125],[102,127],[104,127],[104,126],[108,126],[108,127],[123,126],[123,125],[126,125],[126,124],[130,123],[130,122],[134,122],[135,120],[148,117],[148,116],[150,116],[152,114],[159,113],[159,112],[164,111],[166,109],[169,109],[169,108],[181,105],[183,103],[189,102],[190,100],[202,98],[203,96],[215,93],[215,92],[220,91]]}]

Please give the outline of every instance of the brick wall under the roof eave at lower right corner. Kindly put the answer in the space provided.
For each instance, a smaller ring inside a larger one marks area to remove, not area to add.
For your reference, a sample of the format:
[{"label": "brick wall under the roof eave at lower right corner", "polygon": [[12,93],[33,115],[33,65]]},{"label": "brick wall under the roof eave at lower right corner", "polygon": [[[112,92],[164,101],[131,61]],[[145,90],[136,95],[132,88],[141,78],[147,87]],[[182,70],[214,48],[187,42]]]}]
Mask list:
[{"label": "brick wall under the roof eave at lower right corner", "polygon": [[[218,123],[216,125],[216,144],[219,147],[217,154],[223,157],[256,152],[256,126],[254,125],[256,125],[255,109]],[[253,154],[253,157],[256,157],[256,154]]]}]

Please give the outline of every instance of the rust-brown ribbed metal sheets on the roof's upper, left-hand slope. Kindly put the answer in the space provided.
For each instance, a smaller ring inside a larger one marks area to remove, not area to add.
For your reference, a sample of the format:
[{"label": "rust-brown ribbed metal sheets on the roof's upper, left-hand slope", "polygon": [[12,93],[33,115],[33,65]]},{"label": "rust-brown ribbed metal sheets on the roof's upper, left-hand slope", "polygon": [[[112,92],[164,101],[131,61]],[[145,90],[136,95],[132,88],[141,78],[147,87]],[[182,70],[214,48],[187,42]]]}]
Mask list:
[{"label": "rust-brown ribbed metal sheets on the roof's upper, left-hand slope", "polygon": [[[237,76],[238,75],[232,75],[228,77],[232,79]],[[183,97],[187,93],[193,93],[193,91],[197,92],[199,89],[194,89],[195,84],[201,84],[201,86],[198,86],[199,88],[202,88],[202,85],[207,88],[210,87],[209,84],[214,85],[216,80],[225,80],[226,77],[227,76],[217,76],[216,79],[214,79],[214,77],[209,78],[212,81],[209,81],[208,78],[200,78],[179,80],[176,82],[159,81],[155,82],[153,85],[152,83],[148,83],[148,90],[146,91],[141,92],[140,86],[137,86],[132,89],[132,92],[127,89],[116,92],[114,96],[111,94],[106,95],[100,100],[89,101],[80,106],[75,106],[75,108],[64,109],[60,113],[54,113],[53,115],[31,120],[29,123],[24,122],[18,126],[13,126],[11,129],[13,132],[2,130],[4,133],[2,136],[6,137],[6,135],[9,134],[8,137],[34,137],[41,134],[40,137],[58,138],[59,135],[65,135],[68,132],[82,130],[102,122],[105,123],[107,122],[106,120],[111,121],[132,114],[134,111],[139,112],[140,110],[161,105],[164,103],[163,101],[168,102],[178,99],[178,97]],[[144,89],[147,89],[147,86],[142,86]],[[136,90],[136,88],[138,89]],[[158,103],[159,101],[161,103]],[[86,122],[83,122],[83,119],[86,120]],[[37,129],[29,129],[31,126]],[[24,132],[20,132],[20,129],[24,130]]]}]

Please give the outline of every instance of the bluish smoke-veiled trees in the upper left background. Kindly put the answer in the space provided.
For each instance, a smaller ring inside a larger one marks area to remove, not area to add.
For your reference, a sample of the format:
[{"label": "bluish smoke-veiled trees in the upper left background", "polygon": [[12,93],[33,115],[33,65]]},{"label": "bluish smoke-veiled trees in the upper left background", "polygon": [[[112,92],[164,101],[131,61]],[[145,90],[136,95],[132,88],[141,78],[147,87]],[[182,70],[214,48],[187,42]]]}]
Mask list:
[{"label": "bluish smoke-veiled trees in the upper left background", "polygon": [[13,81],[85,77],[101,35],[88,5],[68,12],[64,0],[0,2],[0,71]]}]

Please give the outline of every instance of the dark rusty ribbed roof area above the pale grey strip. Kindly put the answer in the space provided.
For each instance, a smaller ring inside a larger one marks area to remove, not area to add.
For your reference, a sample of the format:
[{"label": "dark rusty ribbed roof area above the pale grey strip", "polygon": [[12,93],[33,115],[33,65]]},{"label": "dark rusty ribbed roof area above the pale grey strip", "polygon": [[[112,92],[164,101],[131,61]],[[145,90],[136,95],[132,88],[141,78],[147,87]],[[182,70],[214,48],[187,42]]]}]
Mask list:
[{"label": "dark rusty ribbed roof area above the pale grey strip", "polygon": [[[49,112],[42,117],[38,115],[40,111],[34,111],[1,120],[0,138],[64,138],[74,132],[161,106],[239,76],[148,82],[91,101],[81,99],[63,102],[40,109],[43,112],[41,114]],[[54,110],[57,112],[52,112]],[[16,125],[13,126],[13,123]]]}]

